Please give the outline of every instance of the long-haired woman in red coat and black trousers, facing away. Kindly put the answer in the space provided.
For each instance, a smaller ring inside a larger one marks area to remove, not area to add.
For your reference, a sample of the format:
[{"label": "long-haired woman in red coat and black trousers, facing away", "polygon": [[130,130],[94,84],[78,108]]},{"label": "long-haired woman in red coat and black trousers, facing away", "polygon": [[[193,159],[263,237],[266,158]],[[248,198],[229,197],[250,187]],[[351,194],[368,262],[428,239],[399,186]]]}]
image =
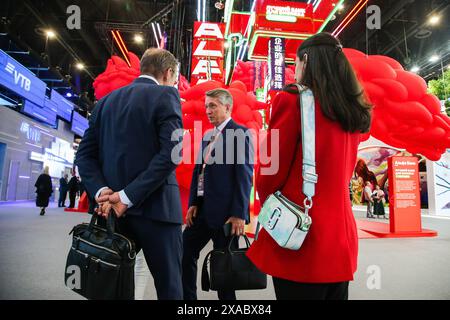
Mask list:
[{"label": "long-haired woman in red coat and black trousers, facing away", "polygon": [[[296,81],[315,97],[316,173],[318,183],[310,210],[311,229],[299,250],[281,248],[262,229],[248,257],[272,275],[277,299],[348,299],[358,256],[358,235],[348,184],[356,163],[360,133],[367,132],[371,106],[339,40],[314,35],[297,50]],[[279,130],[279,169],[274,175],[257,171],[261,203],[279,190],[303,205],[302,146],[298,92],[288,86],[273,102],[271,130]],[[296,142],[297,141],[297,142]],[[272,153],[271,153],[272,152]]]}]

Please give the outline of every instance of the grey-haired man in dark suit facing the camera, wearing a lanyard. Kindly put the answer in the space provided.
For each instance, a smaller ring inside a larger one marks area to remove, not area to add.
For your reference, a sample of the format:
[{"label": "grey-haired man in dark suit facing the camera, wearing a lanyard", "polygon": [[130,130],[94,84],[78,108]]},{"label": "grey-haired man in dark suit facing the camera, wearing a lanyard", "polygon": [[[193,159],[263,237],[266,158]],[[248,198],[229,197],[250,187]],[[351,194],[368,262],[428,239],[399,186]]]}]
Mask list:
[{"label": "grey-haired man in dark suit facing the camera, wearing a lanyard", "polygon": [[[185,300],[197,299],[197,260],[209,240],[224,248],[230,233],[242,235],[249,222],[253,176],[252,139],[247,128],[231,119],[233,97],[225,89],[208,91],[206,115],[214,129],[205,134],[193,175],[183,232],[183,291]],[[234,247],[237,247],[235,238]],[[235,300],[234,291],[219,291],[219,299]]]}]

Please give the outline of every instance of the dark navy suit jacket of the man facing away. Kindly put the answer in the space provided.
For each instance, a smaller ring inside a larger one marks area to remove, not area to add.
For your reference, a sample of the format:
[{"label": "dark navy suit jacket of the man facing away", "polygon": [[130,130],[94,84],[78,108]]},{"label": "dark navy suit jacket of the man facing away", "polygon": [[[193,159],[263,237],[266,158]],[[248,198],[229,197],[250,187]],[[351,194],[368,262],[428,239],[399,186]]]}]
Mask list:
[{"label": "dark navy suit jacket of the man facing away", "polygon": [[[80,143],[76,164],[88,193],[124,189],[133,203],[128,215],[182,223],[175,178],[172,133],[182,130],[178,91],[137,78],[95,107]],[[180,159],[181,160],[181,159]]]}]

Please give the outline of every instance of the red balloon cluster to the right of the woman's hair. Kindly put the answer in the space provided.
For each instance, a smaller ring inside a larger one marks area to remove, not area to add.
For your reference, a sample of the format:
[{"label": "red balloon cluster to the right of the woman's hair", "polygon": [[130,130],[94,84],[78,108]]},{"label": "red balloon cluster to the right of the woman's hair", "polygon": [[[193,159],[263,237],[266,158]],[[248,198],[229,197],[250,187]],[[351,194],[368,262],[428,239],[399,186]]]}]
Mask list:
[{"label": "red balloon cluster to the right of the woman's hair", "polygon": [[366,56],[354,49],[344,53],[374,106],[370,134],[393,147],[439,160],[450,148],[450,118],[440,112],[438,98],[427,93],[425,80],[392,58]]}]

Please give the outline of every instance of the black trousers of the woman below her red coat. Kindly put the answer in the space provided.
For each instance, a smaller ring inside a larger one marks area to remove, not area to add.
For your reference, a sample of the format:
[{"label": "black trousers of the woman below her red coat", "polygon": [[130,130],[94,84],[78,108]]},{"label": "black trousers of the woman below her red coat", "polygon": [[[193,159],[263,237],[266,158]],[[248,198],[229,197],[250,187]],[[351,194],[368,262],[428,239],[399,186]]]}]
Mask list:
[{"label": "black trousers of the woman below her red coat", "polygon": [[300,283],[273,277],[277,300],[348,300],[348,284]]}]

